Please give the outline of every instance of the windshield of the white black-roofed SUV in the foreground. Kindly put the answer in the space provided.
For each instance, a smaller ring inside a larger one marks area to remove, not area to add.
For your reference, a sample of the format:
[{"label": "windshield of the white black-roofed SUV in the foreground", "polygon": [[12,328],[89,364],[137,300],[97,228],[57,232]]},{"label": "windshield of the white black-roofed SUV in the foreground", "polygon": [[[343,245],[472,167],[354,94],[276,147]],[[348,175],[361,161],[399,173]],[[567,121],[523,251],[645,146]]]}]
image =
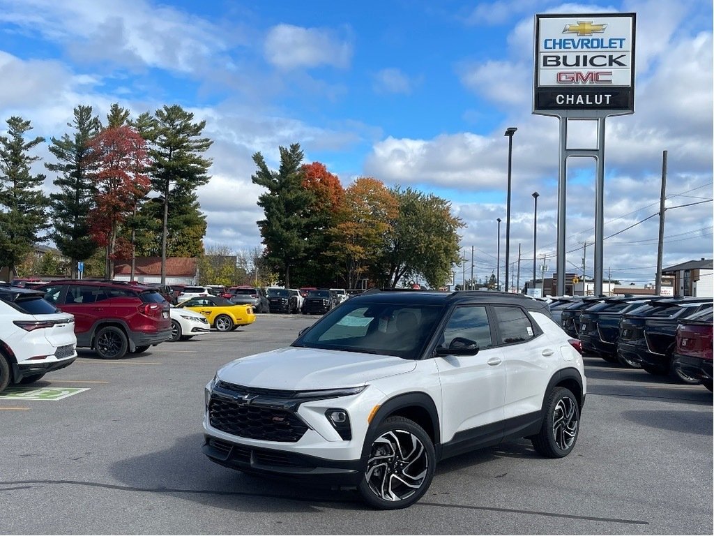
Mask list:
[{"label": "windshield of the white black-roofed SUV in the foreground", "polygon": [[417,359],[443,307],[345,302],[316,322],[293,346]]}]

